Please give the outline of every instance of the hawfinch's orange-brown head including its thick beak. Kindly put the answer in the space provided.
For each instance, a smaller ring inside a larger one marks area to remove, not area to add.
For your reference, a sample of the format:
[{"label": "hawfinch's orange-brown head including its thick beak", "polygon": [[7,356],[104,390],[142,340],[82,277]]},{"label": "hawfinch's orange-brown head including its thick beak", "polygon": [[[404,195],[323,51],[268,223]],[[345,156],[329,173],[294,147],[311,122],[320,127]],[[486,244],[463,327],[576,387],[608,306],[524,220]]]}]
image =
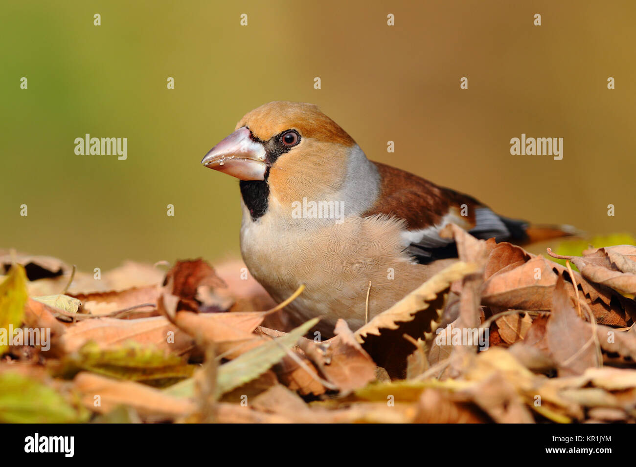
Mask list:
[{"label": "hawfinch's orange-brown head including its thick beak", "polygon": [[277,101],[247,113],[201,163],[244,182],[266,182],[268,193],[285,203],[340,189],[354,148],[316,105]]}]

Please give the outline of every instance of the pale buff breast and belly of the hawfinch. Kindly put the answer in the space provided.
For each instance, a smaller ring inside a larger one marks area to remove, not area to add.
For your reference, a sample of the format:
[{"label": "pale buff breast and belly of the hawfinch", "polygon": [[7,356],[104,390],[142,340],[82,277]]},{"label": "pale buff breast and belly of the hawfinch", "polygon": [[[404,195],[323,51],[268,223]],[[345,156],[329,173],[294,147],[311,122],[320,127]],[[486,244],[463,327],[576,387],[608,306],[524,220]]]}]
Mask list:
[{"label": "pale buff breast and belly of the hawfinch", "polygon": [[370,317],[389,308],[426,278],[427,267],[403,252],[399,220],[387,217],[291,219],[270,203],[252,220],[244,206],[241,253],[252,276],[275,301],[300,287],[305,291],[286,309],[296,321],[321,316],[322,323],[345,318],[352,329],[364,324],[371,281]]}]

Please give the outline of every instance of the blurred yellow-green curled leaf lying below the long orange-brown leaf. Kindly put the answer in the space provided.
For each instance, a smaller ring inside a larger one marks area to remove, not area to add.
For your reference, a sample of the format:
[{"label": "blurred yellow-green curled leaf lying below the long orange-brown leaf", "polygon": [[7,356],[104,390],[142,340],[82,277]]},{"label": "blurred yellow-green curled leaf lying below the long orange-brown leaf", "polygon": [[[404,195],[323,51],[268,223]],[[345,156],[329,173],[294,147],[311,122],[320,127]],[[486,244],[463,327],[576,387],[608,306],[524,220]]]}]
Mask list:
[{"label": "blurred yellow-green curled leaf lying below the long orange-brown leaf", "polygon": [[142,346],[127,341],[102,349],[95,341],[86,342],[78,351],[66,356],[56,374],[73,377],[80,370],[103,376],[163,386],[175,379],[192,376],[195,365],[188,365],[180,356],[166,353],[155,346]]}]

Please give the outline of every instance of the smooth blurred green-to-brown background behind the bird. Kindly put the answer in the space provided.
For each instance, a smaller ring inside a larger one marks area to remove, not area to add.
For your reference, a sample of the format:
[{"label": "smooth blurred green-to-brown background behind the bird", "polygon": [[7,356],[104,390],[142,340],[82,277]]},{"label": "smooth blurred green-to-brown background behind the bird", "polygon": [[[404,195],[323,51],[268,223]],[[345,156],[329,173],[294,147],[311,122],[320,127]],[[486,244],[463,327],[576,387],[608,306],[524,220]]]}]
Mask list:
[{"label": "smooth blurred green-to-brown background behind the bird", "polygon": [[[238,182],[199,162],[271,100],[314,102],[369,158],[509,217],[636,232],[633,1],[4,1],[0,12],[0,247],[88,270],[238,255]],[[85,133],[127,137],[128,159],[77,156]],[[511,156],[521,133],[563,137],[563,160]]]}]

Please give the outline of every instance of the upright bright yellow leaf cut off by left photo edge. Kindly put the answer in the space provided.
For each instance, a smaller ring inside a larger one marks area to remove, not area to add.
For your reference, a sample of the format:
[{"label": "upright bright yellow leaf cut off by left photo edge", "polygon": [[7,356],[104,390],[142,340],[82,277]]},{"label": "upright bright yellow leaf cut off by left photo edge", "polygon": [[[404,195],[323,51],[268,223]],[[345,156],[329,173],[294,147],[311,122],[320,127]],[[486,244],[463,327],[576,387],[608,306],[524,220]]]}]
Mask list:
[{"label": "upright bright yellow leaf cut off by left photo edge", "polygon": [[17,328],[22,324],[27,298],[27,274],[20,264],[13,264],[0,284],[0,355],[9,348],[9,326]]}]

